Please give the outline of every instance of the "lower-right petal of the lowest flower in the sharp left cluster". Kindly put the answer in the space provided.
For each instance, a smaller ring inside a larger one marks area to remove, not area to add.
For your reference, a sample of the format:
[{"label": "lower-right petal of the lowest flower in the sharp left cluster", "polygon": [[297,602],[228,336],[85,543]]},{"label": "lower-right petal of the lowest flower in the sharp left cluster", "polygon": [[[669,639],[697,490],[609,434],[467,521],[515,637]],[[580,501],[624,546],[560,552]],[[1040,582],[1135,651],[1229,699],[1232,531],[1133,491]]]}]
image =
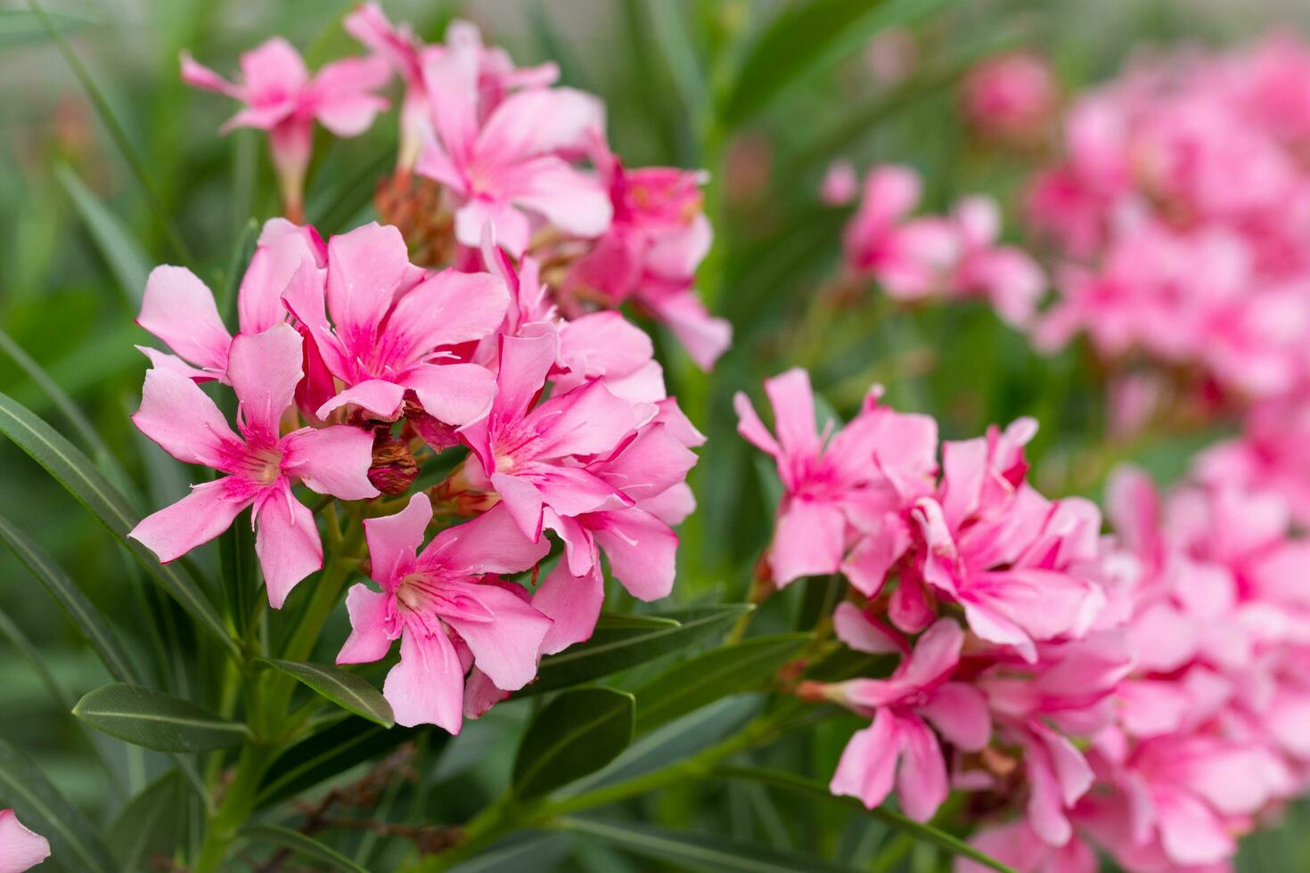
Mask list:
[{"label": "lower-right petal of the lowest flower in the sharp left cluster", "polygon": [[550,619],[529,603],[495,585],[447,582],[448,588],[477,599],[493,613],[490,622],[470,622],[444,615],[473,650],[478,669],[498,688],[516,691],[537,675],[537,653],[550,628]]}]

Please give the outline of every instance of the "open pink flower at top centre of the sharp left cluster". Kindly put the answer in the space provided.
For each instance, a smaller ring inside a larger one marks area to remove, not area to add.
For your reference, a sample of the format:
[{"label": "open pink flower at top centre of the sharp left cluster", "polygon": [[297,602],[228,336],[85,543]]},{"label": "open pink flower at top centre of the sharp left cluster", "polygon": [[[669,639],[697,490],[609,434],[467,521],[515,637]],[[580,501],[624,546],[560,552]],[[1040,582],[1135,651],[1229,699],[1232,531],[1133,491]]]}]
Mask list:
[{"label": "open pink flower at top centre of the sharp left cluster", "polygon": [[491,373],[448,347],[479,340],[502,322],[508,292],[498,276],[427,275],[410,264],[396,228],[368,224],[333,237],[326,271],[305,263],[284,300],[342,386],[324,398],[320,418],[354,406],[390,421],[410,394],[448,425],[486,412]]}]

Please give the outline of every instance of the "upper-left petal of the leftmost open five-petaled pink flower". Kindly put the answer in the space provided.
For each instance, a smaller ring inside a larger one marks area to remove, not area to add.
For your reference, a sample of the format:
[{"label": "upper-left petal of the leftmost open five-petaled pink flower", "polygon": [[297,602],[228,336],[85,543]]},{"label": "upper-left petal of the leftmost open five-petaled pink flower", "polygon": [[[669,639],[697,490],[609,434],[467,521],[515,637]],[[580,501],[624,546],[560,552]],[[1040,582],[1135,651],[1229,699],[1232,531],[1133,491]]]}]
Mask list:
[{"label": "upper-left petal of the leftmost open five-petaled pink flower", "polygon": [[208,394],[173,370],[145,373],[141,406],[132,424],[185,463],[225,470],[241,452],[241,441]]}]

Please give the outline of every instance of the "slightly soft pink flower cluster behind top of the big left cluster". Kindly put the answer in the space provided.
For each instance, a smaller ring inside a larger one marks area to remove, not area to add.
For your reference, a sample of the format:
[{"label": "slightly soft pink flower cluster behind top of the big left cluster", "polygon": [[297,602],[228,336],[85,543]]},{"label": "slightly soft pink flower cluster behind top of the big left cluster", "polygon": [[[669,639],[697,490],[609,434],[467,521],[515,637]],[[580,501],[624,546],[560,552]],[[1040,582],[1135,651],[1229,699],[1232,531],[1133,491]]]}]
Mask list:
[{"label": "slightly soft pink flower cluster behind top of the big left cluster", "polygon": [[313,120],[339,136],[363,132],[386,107],[373,92],[394,73],[405,89],[400,149],[377,207],[421,266],[476,267],[490,228],[512,258],[537,262],[563,315],[630,304],[713,366],[731,327],[693,289],[711,240],[703,174],[625,169],[607,145],[596,97],[555,86],[554,64],[515,67],[469,22],[424,45],[369,3],[345,26],[371,55],[313,77],[280,39],[242,55],[240,85],[182,59],[186,81],[245,103],[228,127],[269,130],[288,217],[300,220]]}]

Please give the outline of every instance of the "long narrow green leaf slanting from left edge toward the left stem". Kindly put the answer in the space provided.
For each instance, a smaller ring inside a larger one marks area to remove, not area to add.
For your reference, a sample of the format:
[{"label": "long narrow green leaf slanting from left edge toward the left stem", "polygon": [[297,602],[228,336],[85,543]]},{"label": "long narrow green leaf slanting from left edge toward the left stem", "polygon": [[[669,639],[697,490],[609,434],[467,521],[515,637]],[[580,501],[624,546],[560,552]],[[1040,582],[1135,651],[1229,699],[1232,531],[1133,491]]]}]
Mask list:
[{"label": "long narrow green leaf slanting from left edge toward the left stem", "polygon": [[181,603],[196,623],[223,643],[233,654],[240,645],[228,632],[219,611],[200,590],[196,581],[177,564],[162,565],[148,548],[127,533],[139,521],[127,497],[105,478],[73,444],[56,433],[48,424],[0,394],[0,433],[14,441],[33,461],[85,507],[110,533],[118,537],[138,561]]}]

